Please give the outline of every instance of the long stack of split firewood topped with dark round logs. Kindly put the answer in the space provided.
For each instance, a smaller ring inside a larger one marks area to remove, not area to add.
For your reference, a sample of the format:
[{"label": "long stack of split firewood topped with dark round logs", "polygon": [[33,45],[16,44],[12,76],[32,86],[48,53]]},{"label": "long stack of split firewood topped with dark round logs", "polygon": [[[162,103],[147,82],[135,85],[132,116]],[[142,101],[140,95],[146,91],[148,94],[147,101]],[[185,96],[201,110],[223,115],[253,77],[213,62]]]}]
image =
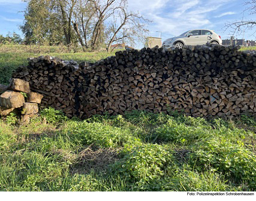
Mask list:
[{"label": "long stack of split firewood topped with dark round logs", "polygon": [[30,58],[14,78],[68,117],[131,110],[232,118],[256,111],[256,55],[239,47],[130,49],[94,64]]}]

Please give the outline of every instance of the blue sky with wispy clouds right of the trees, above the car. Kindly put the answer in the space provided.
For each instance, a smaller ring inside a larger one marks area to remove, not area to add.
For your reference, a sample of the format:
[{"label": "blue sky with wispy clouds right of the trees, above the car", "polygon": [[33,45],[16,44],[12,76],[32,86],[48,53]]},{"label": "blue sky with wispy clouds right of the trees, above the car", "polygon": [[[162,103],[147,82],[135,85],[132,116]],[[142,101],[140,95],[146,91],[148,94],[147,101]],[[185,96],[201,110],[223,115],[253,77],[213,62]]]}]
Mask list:
[{"label": "blue sky with wispy clouds right of the trees, above the car", "polygon": [[[132,10],[153,20],[148,26],[151,36],[162,40],[180,35],[190,29],[212,29],[222,39],[230,38],[230,31],[224,31],[228,22],[243,19],[255,19],[256,15],[243,12],[246,9],[244,0],[128,0]],[[146,2],[146,3],[145,3]],[[245,33],[248,40],[256,39],[252,31]],[[237,36],[242,38],[242,36]]]}]

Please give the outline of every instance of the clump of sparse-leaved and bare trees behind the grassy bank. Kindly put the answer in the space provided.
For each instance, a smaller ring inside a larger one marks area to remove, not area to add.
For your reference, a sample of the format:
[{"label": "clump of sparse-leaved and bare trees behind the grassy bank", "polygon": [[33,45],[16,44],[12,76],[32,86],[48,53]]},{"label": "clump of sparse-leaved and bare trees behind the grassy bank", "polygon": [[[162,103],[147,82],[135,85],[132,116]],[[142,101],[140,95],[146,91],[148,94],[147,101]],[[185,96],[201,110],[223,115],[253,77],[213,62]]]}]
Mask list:
[{"label": "clump of sparse-leaved and bare trees behind the grassy bank", "polygon": [[[42,6],[36,0],[27,1],[26,24],[22,28],[28,37],[48,40],[50,33],[69,47],[80,43],[84,51],[100,46],[110,50],[111,44],[120,40],[132,42],[146,31],[144,24],[148,22],[128,11],[127,0],[40,0]],[[42,22],[35,23],[34,16]]]}]

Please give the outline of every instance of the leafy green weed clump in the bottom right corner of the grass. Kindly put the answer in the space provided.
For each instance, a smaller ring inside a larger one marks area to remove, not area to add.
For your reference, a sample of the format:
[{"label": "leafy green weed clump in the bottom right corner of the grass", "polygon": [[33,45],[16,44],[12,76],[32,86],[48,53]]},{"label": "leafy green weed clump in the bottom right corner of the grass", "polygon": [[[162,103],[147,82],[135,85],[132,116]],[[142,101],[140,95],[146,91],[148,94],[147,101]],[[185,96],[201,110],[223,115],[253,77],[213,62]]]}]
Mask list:
[{"label": "leafy green weed clump in the bottom right corner of the grass", "polygon": [[205,169],[225,175],[231,182],[248,183],[256,189],[256,155],[246,150],[240,141],[237,144],[229,141],[205,142],[200,150],[191,155],[190,164],[199,171]]}]

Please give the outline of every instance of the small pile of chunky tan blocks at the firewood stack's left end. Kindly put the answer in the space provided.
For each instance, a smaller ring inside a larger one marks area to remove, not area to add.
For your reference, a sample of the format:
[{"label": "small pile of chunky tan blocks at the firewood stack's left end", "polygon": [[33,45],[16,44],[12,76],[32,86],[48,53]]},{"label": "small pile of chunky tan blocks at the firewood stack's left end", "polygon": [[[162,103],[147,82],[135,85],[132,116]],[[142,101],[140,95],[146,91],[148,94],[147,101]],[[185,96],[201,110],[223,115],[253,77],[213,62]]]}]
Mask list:
[{"label": "small pile of chunky tan blocks at the firewood stack's left end", "polygon": [[19,108],[21,119],[26,122],[38,113],[38,104],[41,103],[43,95],[31,92],[29,82],[14,78],[9,87],[2,87],[2,89],[4,92],[0,95],[1,116]]}]

